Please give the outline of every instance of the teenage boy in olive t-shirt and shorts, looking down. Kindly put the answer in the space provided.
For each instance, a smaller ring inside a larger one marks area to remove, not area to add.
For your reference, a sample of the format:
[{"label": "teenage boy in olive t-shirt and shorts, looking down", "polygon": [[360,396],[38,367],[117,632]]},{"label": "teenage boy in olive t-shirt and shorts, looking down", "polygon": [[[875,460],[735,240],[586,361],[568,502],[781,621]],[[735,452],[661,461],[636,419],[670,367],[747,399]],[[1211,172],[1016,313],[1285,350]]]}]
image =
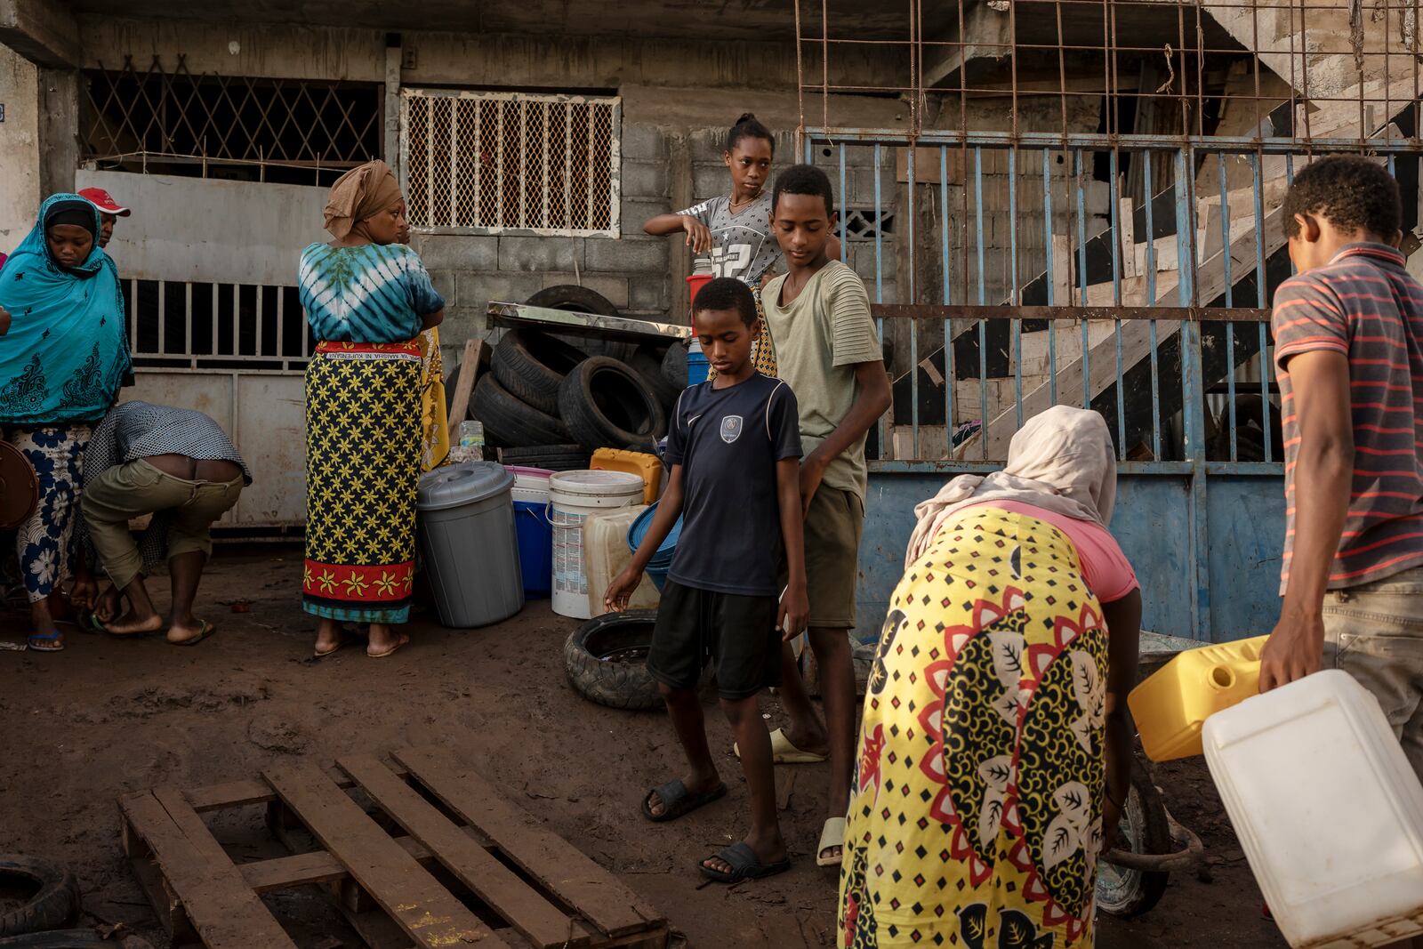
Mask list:
[{"label": "teenage boy in olive t-shirt and shorts, looking down", "polygon": [[771,736],[783,761],[830,754],[830,800],[815,861],[838,866],[855,743],[855,626],[859,534],[865,519],[865,435],[889,408],[889,377],[869,297],[855,272],[831,260],[835,199],[825,172],[810,165],[783,171],[771,192],[771,229],[787,273],[761,292],[776,340],[780,377],[800,407],[801,504],[805,508],[808,639],[820,669],[821,724],[783,649],[781,704],[790,717]]}]

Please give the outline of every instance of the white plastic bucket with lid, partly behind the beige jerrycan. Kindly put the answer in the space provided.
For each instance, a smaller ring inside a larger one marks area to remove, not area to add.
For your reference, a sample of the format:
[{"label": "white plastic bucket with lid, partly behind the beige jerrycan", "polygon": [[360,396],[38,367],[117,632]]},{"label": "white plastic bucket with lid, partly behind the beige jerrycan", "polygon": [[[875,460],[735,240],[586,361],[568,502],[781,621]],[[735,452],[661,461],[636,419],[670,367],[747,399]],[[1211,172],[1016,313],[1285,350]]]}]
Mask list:
[{"label": "white plastic bucket with lid, partly behind the beige jerrycan", "polygon": [[583,518],[605,508],[642,499],[642,478],[626,471],[555,471],[548,479],[549,524],[554,529],[554,612],[591,619]]}]

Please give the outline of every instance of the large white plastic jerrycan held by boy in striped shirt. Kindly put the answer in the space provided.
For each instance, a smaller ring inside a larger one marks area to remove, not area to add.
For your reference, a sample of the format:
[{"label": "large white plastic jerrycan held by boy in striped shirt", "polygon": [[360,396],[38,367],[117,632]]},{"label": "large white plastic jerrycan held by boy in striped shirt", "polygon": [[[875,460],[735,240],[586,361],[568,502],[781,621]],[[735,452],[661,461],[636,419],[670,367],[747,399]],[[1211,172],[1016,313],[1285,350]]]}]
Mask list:
[{"label": "large white plastic jerrycan held by boy in striped shirt", "polygon": [[1423,932],[1423,785],[1383,710],[1328,669],[1211,716],[1205,763],[1295,949]]}]

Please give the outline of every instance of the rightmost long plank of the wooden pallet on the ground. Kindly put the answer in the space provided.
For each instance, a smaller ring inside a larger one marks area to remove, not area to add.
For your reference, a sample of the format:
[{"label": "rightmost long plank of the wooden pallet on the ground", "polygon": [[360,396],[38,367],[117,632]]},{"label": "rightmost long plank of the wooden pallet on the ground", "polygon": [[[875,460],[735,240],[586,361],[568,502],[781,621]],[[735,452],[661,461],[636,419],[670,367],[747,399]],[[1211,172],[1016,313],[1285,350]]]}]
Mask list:
[{"label": "rightmost long plank of the wooden pallet on the ground", "polygon": [[391,753],[440,801],[478,828],[505,857],[609,936],[665,922],[612,874],[568,841],[534,824],[498,788],[450,760],[443,748]]}]

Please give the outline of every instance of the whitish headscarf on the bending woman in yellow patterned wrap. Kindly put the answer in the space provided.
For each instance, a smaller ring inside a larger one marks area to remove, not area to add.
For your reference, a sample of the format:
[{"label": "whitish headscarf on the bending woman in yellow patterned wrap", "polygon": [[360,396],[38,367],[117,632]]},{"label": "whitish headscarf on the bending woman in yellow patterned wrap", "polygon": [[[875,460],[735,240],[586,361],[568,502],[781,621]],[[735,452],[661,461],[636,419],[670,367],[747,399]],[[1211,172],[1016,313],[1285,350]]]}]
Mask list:
[{"label": "whitish headscarf on the bending woman in yellow patterned wrap", "polygon": [[959,475],[914,508],[919,522],[904,565],[924,555],[955,511],[973,504],[1019,501],[1107,526],[1116,499],[1117,460],[1106,420],[1094,411],[1053,405],[1017,430],[1002,471]]}]

